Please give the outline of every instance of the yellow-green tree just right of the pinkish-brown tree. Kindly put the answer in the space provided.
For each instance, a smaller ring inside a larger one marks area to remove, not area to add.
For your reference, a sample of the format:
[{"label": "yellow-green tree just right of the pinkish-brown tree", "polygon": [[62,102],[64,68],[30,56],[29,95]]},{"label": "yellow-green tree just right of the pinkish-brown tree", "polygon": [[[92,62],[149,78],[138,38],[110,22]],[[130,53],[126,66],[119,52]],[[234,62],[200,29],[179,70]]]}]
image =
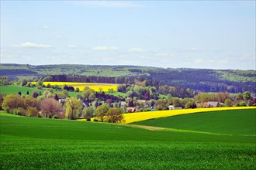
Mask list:
[{"label": "yellow-green tree just right of the pinkish-brown tree", "polygon": [[77,98],[68,97],[67,102],[64,104],[66,110],[66,117],[75,120],[78,118],[78,114],[81,113],[82,104]]}]

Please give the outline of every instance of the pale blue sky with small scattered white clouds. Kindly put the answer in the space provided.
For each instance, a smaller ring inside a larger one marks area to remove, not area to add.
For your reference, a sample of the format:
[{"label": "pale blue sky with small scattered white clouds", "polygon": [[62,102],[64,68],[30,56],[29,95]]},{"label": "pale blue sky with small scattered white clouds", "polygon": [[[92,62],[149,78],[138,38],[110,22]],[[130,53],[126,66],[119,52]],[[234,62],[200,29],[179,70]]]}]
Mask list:
[{"label": "pale blue sky with small scattered white clouds", "polygon": [[1,0],[1,63],[255,70],[255,1]]}]

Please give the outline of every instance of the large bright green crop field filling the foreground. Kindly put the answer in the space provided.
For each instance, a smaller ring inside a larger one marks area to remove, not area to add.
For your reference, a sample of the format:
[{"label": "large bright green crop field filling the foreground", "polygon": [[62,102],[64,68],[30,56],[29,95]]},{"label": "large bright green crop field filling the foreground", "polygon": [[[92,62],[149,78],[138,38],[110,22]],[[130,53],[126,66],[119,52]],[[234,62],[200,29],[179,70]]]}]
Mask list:
[{"label": "large bright green crop field filling the foreground", "polygon": [[252,135],[149,131],[3,111],[0,118],[1,169],[256,168]]}]

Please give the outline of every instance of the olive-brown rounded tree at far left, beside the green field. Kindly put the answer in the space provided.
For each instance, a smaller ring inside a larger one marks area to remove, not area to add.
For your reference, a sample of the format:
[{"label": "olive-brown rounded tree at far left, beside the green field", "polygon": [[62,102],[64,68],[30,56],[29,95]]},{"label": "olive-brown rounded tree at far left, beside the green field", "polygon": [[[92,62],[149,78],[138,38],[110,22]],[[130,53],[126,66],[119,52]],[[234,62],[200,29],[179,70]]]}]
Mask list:
[{"label": "olive-brown rounded tree at far left, beside the green field", "polygon": [[18,107],[25,108],[24,100],[19,95],[9,94],[5,96],[2,102],[2,109],[8,113],[12,113],[12,111]]}]

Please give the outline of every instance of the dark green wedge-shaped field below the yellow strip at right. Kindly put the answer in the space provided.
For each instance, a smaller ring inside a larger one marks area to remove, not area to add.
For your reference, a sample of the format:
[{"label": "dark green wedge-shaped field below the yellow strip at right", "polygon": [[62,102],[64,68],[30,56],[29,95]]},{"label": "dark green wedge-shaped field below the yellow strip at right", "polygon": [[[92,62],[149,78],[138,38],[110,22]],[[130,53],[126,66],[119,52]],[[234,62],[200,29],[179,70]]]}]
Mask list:
[{"label": "dark green wedge-shaped field below the yellow strip at right", "polygon": [[256,135],[256,110],[225,110],[140,121],[133,124],[217,134]]}]

